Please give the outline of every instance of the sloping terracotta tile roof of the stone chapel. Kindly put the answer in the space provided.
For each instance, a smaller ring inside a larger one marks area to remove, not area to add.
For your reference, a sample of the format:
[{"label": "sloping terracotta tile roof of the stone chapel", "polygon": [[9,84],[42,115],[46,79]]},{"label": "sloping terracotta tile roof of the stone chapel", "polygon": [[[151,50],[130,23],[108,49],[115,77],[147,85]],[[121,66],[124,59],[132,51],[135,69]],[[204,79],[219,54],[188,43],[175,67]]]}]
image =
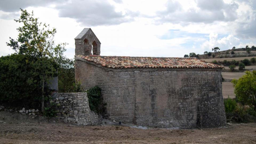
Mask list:
[{"label": "sloping terracotta tile roof of the stone chapel", "polygon": [[77,55],[94,62],[103,67],[113,69],[127,68],[203,68],[222,69],[222,66],[215,65],[197,58],[168,58],[168,57],[126,57],[126,56],[100,56],[100,55]]}]

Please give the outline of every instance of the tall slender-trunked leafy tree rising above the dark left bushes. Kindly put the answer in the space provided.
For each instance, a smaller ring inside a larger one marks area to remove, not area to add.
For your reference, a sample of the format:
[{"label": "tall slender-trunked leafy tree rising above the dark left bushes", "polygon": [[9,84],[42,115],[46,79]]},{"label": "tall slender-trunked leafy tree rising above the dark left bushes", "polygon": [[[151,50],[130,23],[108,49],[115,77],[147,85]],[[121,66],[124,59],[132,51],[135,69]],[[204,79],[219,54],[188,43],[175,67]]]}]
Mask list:
[{"label": "tall slender-trunked leafy tree rising above the dark left bushes", "polygon": [[18,27],[18,39],[10,38],[10,43],[7,43],[18,54],[31,55],[37,60],[32,63],[33,74],[28,80],[29,83],[34,83],[34,76],[39,76],[37,81],[41,86],[41,102],[42,111],[44,111],[44,94],[45,83],[57,74],[57,62],[63,59],[66,43],[55,45],[53,38],[56,29],[50,29],[49,25],[38,22],[38,18],[33,17],[26,10],[21,9],[21,16],[15,22],[22,23],[22,27]]}]

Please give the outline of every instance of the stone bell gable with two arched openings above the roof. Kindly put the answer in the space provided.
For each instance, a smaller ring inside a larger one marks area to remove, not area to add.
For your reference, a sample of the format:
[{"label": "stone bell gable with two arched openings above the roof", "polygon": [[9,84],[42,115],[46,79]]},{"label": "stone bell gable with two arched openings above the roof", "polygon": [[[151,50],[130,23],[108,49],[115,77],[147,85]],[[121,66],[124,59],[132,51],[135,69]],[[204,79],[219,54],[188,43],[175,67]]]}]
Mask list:
[{"label": "stone bell gable with two arched openings above the roof", "polygon": [[75,55],[100,55],[101,42],[91,28],[84,28],[75,37]]}]

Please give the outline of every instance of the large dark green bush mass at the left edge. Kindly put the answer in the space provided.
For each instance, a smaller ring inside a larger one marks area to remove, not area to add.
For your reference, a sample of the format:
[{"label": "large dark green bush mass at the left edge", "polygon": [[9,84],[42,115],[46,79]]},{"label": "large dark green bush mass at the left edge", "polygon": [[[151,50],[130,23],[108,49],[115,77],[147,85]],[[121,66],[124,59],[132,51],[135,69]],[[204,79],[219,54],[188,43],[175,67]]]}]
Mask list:
[{"label": "large dark green bush mass at the left edge", "polygon": [[[0,103],[10,107],[40,109],[40,77],[34,71],[36,57],[11,54],[0,57]],[[44,87],[44,95],[50,93]]]}]

